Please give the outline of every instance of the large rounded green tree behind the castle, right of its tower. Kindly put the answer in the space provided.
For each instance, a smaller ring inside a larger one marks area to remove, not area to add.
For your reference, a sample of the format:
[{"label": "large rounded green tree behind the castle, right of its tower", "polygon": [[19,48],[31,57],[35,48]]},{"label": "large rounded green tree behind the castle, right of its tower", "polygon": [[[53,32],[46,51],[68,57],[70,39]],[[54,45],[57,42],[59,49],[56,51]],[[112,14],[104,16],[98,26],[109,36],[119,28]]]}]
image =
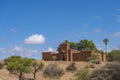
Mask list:
[{"label": "large rounded green tree behind the castle, right of its tower", "polygon": [[84,39],[78,43],[78,50],[97,50],[97,48],[93,41]]}]

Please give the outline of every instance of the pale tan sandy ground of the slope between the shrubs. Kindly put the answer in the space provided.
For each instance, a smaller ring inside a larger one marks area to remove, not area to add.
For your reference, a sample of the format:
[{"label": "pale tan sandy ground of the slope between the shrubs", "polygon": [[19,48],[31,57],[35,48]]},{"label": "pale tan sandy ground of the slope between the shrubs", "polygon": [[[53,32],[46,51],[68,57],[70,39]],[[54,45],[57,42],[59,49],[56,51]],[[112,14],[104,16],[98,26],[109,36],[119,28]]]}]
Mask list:
[{"label": "pale tan sandy ground of the slope between the shrubs", "polygon": [[[66,67],[71,63],[71,62],[63,62],[63,61],[44,61],[45,66],[50,64],[50,63],[56,63],[58,64],[59,67],[63,68],[64,70]],[[75,62],[77,70],[80,70],[84,68],[88,63],[87,62]],[[96,68],[100,68],[101,66],[104,66],[105,63],[101,63],[99,65],[96,65]],[[65,74],[61,77],[60,80],[70,80],[71,78],[74,78],[74,74],[72,72],[66,72]],[[33,78],[32,74],[25,74],[24,75],[26,78]],[[0,70],[0,80],[18,80],[18,76],[10,74],[6,69],[1,69]],[[37,73],[37,80],[46,80],[43,77],[42,71]]]}]

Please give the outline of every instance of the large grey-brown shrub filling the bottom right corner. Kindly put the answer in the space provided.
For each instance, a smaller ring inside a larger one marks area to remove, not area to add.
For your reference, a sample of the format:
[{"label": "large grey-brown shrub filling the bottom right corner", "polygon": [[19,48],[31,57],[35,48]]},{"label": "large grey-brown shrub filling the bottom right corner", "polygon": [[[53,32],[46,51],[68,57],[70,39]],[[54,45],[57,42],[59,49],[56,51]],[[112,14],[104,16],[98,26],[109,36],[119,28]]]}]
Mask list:
[{"label": "large grey-brown shrub filling the bottom right corner", "polygon": [[91,80],[120,80],[120,63],[113,62],[95,70]]}]

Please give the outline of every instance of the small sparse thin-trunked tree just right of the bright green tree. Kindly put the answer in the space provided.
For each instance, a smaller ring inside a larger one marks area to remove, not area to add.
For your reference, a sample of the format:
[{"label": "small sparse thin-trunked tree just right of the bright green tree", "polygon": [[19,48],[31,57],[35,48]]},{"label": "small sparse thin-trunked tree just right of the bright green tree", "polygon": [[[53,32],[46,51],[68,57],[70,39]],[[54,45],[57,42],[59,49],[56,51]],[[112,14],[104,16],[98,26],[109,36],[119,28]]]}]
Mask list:
[{"label": "small sparse thin-trunked tree just right of the bright green tree", "polygon": [[43,62],[34,61],[32,64],[32,74],[34,76],[34,80],[36,80],[36,73],[44,68]]}]

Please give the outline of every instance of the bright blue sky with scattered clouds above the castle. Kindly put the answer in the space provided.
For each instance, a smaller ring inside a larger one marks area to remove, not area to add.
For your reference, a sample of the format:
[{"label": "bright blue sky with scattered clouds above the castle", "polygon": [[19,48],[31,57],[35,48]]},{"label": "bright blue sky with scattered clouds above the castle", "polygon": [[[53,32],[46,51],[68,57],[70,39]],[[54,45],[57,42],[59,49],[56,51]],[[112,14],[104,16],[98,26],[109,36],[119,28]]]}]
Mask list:
[{"label": "bright blue sky with scattered clouds above the castle", "polygon": [[64,40],[93,40],[120,49],[119,0],[0,0],[0,59],[17,54],[41,59]]}]

